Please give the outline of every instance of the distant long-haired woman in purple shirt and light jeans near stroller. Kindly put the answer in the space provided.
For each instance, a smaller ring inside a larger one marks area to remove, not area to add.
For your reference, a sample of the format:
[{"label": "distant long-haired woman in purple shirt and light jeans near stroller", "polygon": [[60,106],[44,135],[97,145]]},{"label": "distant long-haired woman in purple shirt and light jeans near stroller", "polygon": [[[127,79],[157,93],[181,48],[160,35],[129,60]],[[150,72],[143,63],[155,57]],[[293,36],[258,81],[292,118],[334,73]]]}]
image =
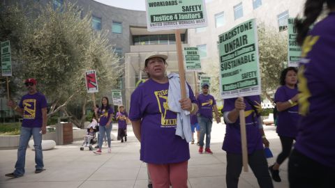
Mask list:
[{"label": "distant long-haired woman in purple shirt and light jeans near stroller", "polygon": [[96,116],[99,117],[99,139],[98,139],[98,150],[95,150],[94,153],[101,154],[101,148],[103,146],[103,137],[107,136],[108,150],[110,150],[110,132],[112,131],[112,118],[113,118],[113,109],[110,107],[110,102],[108,97],[103,97],[101,99],[101,107],[94,109]]}]

